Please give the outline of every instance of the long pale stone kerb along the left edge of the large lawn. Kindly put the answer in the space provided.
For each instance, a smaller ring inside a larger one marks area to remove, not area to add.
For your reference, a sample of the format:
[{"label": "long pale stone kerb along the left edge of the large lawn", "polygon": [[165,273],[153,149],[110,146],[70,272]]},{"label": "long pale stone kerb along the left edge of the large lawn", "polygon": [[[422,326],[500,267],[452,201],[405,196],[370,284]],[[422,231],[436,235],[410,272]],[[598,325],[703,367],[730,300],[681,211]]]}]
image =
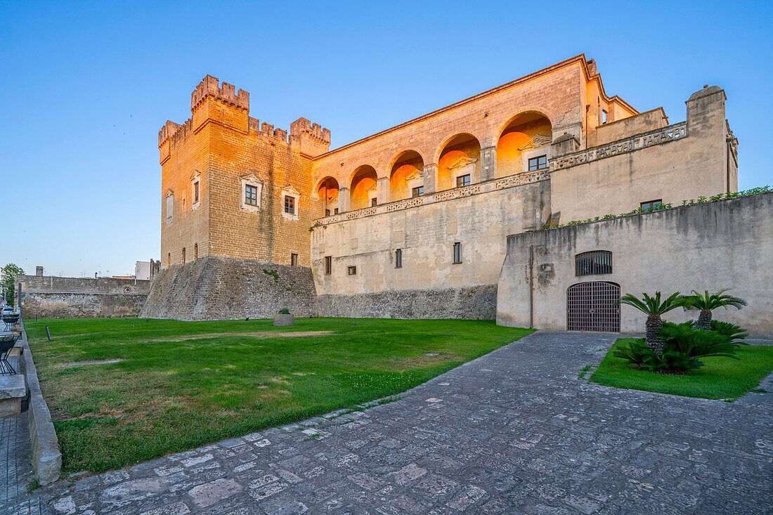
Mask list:
[{"label": "long pale stone kerb along the left edge of the large lawn", "polygon": [[32,352],[29,350],[27,332],[23,320],[19,320],[22,329],[22,342],[25,367],[25,380],[29,391],[29,435],[32,440],[32,468],[41,485],[48,485],[59,479],[62,471],[62,452],[59,448],[59,438],[51,421],[46,399],[40,391],[40,383]]}]

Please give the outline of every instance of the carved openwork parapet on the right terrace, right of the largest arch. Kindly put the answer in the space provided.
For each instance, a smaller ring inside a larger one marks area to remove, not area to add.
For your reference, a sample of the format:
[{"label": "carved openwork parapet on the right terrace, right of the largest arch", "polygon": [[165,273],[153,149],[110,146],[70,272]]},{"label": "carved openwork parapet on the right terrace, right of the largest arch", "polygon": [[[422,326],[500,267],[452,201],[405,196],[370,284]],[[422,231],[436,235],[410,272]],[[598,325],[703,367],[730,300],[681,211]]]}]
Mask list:
[{"label": "carved openwork parapet on the right terrace, right of the largest arch", "polygon": [[630,136],[607,145],[587,148],[581,152],[560,156],[550,161],[550,170],[556,171],[587,162],[598,161],[599,159],[605,159],[614,155],[627,154],[642,148],[675,142],[687,136],[687,122],[681,121],[678,124],[669,125],[655,131],[642,132],[642,134]]}]

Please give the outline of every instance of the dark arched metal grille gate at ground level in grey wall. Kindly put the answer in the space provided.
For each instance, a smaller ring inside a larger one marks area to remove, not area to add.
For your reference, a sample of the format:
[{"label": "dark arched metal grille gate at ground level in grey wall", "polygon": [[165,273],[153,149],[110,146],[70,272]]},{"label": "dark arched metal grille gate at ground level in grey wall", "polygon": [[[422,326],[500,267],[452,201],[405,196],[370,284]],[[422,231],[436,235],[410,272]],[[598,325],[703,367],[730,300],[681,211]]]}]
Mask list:
[{"label": "dark arched metal grille gate at ground level in grey wall", "polygon": [[620,332],[620,285],[588,281],[567,290],[567,329]]}]

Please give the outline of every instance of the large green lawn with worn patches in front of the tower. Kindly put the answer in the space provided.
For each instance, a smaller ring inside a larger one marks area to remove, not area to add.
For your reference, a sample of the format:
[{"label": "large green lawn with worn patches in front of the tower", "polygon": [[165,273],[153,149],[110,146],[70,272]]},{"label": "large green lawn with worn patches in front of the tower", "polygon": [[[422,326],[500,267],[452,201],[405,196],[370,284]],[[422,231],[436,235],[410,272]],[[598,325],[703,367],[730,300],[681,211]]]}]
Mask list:
[{"label": "large green lawn with worn patches in front of the tower", "polygon": [[[296,319],[275,328],[270,320],[39,319],[25,326],[67,472],[117,469],[353,408],[531,333],[467,320]],[[307,334],[281,336],[298,332]],[[65,365],[110,359],[122,361]]]}]

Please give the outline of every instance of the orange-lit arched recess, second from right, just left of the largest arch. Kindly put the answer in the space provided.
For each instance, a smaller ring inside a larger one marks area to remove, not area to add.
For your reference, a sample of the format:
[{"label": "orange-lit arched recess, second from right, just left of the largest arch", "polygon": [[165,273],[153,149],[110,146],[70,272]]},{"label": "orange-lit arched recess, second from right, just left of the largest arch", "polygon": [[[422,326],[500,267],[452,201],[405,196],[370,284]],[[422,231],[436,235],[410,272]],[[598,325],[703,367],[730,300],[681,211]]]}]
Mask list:
[{"label": "orange-lit arched recess, second from right, just left of the largest arch", "polygon": [[457,186],[458,177],[470,176],[470,183],[481,180],[480,140],[469,132],[460,132],[445,140],[438,152],[438,172],[435,190]]}]

